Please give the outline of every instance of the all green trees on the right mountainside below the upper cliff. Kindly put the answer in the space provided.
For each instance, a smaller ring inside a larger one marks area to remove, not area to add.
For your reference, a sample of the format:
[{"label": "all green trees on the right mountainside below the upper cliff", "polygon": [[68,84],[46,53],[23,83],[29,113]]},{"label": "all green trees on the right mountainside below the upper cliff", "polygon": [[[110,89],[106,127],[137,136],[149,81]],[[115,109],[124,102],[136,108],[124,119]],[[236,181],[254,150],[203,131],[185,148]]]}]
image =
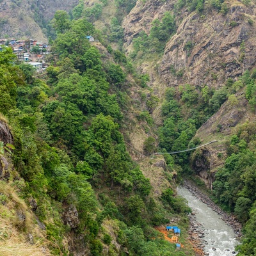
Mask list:
[{"label": "all green trees on the right mountainside below the upper cliff", "polygon": [[[235,108],[239,104],[235,93],[242,90],[248,100],[248,111],[255,113],[254,70],[247,70],[236,82],[227,79],[226,84],[218,90],[211,90],[208,86],[196,88],[190,84],[180,86],[178,90],[168,88],[162,106],[164,124],[159,128],[161,150],[173,152],[200,143],[199,140],[191,141],[196,130],[209,116],[218,111],[226,100],[229,108]],[[221,129],[219,125],[217,131]],[[234,212],[243,224],[244,237],[242,244],[237,247],[239,255],[255,255],[255,129],[255,122],[246,122],[236,128],[236,133],[228,141],[227,159],[223,159],[225,165],[216,172],[213,183],[216,202],[226,211]],[[145,147],[150,152],[154,141],[151,144],[149,142],[145,141]],[[188,153],[179,154],[179,157],[166,155],[165,158],[169,170],[191,173],[193,159],[189,160]]]}]

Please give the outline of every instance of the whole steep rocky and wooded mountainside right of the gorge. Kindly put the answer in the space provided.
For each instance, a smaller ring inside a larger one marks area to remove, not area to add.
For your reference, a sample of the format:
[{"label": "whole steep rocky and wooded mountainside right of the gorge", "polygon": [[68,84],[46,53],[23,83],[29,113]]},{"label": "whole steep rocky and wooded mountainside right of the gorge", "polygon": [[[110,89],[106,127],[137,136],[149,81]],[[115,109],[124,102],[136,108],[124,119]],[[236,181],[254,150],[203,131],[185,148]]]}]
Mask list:
[{"label": "whole steep rocky and wooded mountainside right of the gorge", "polygon": [[159,145],[169,152],[189,147],[193,124],[193,141],[218,140],[175,161],[190,173],[192,169],[212,189],[216,202],[244,224],[239,255],[255,255],[255,1],[137,3],[123,22],[124,45],[149,74],[145,63],[163,44],[166,11],[175,14],[177,31],[163,56],[153,60],[157,68],[152,73],[158,72],[168,88]]}]

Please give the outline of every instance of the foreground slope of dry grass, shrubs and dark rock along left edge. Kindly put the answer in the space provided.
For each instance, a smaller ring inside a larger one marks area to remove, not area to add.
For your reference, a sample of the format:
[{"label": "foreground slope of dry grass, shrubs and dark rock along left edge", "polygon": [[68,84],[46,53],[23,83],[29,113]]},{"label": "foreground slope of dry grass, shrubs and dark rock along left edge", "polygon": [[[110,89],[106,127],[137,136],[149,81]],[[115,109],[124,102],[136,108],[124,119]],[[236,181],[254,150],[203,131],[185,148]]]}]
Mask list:
[{"label": "foreground slope of dry grass, shrubs and dark rock along left edge", "polygon": [[[10,127],[3,116],[0,117],[0,141],[13,143]],[[47,248],[51,241],[46,239],[45,225],[33,213],[36,201],[30,198],[30,204],[26,204],[20,198],[20,189],[24,186],[24,180],[13,168],[10,154],[1,153],[0,255],[51,255]]]}]

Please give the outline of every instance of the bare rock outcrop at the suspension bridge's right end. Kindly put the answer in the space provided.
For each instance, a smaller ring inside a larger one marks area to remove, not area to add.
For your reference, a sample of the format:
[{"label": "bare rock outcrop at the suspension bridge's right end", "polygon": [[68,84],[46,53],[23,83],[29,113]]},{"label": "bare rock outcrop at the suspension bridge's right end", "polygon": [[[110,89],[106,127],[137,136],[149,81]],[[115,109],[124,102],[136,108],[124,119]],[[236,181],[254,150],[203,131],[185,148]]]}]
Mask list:
[{"label": "bare rock outcrop at the suspension bridge's right end", "polygon": [[226,141],[236,132],[237,126],[255,119],[255,114],[248,110],[248,101],[243,92],[236,93],[238,99],[236,106],[225,102],[220,110],[214,114],[200,129],[195,137],[202,143],[218,140],[197,150],[191,157],[191,166],[196,174],[201,177],[209,188],[212,187],[214,175],[218,168],[223,167],[227,156]]}]

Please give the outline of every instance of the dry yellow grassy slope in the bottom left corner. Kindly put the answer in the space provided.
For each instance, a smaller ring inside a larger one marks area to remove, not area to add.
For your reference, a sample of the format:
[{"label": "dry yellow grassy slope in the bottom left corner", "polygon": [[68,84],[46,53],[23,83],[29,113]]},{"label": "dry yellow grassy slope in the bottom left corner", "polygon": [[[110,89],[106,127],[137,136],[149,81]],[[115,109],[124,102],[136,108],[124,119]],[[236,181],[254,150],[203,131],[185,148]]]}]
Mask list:
[{"label": "dry yellow grassy slope in the bottom left corner", "polygon": [[51,255],[44,230],[40,230],[35,215],[15,189],[20,180],[15,183],[0,180],[0,255]]}]

